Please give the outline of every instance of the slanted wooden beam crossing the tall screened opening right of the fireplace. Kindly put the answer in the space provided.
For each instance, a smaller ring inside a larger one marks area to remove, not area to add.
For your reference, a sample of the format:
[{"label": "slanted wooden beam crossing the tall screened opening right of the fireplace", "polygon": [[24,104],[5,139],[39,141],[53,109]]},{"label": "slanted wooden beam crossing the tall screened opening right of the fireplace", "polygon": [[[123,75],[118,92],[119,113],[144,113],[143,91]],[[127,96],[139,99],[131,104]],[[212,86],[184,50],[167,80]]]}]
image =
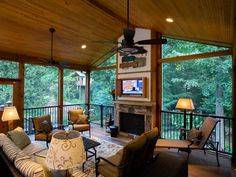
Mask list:
[{"label": "slanted wooden beam crossing the tall screened opening right of the fireplace", "polygon": [[193,55],[185,55],[179,57],[172,57],[172,58],[163,58],[158,59],[158,63],[167,63],[167,62],[176,62],[176,61],[184,61],[184,60],[193,60],[193,59],[203,59],[203,58],[210,58],[210,57],[219,57],[224,55],[232,55],[232,50],[224,50],[218,52],[206,52],[200,54],[193,54]]}]

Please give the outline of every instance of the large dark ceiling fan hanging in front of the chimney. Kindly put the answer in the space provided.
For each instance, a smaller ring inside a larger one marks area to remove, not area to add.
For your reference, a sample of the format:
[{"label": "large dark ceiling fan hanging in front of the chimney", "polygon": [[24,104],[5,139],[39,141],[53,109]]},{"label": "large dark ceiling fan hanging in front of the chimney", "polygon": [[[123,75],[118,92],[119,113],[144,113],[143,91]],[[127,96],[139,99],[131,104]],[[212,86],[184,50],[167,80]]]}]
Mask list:
[{"label": "large dark ceiling fan hanging in front of the chimney", "polygon": [[117,51],[122,56],[147,53],[147,50],[141,45],[159,45],[167,43],[167,40],[164,38],[146,39],[134,42],[135,30],[129,28],[129,0],[127,0],[127,28],[123,29],[123,35],[124,39],[122,42],[112,42],[121,44]]}]

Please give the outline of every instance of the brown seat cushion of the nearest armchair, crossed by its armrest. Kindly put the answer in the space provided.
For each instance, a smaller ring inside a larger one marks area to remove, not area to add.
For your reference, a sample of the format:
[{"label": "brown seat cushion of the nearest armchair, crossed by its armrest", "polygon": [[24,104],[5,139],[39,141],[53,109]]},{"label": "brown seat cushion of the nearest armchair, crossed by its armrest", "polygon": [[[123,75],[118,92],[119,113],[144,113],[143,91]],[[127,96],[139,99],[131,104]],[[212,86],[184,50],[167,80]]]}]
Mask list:
[{"label": "brown seat cushion of the nearest armchair, crossed by its armrest", "polygon": [[[106,159],[116,165],[119,165],[121,163],[122,156],[123,156],[123,149],[119,150],[113,156],[107,157]],[[118,168],[110,165],[104,160],[101,160],[101,162],[99,163],[98,171],[105,177],[117,177],[119,174]]]}]

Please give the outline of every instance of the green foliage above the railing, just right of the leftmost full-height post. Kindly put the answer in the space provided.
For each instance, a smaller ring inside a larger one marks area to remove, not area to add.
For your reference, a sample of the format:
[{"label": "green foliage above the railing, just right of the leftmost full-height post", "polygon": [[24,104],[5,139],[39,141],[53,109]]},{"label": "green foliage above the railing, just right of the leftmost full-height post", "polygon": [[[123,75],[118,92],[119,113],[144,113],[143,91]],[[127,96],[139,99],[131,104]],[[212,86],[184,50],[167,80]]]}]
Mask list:
[{"label": "green foliage above the railing, just right of the leftmost full-height post", "polygon": [[25,108],[58,103],[58,69],[37,65],[25,65]]}]

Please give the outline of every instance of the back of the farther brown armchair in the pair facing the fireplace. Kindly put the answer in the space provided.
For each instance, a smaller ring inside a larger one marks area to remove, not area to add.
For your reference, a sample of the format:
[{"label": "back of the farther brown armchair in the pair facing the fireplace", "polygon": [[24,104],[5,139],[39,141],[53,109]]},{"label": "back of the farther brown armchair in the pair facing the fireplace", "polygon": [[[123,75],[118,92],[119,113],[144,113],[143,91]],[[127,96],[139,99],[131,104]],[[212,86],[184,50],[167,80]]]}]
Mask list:
[{"label": "back of the farther brown armchair in the pair facing the fireplace", "polygon": [[151,131],[144,133],[144,135],[147,137],[147,150],[146,150],[146,162],[149,162],[153,158],[153,152],[154,148],[156,146],[156,142],[158,139],[158,128],[155,127]]}]

